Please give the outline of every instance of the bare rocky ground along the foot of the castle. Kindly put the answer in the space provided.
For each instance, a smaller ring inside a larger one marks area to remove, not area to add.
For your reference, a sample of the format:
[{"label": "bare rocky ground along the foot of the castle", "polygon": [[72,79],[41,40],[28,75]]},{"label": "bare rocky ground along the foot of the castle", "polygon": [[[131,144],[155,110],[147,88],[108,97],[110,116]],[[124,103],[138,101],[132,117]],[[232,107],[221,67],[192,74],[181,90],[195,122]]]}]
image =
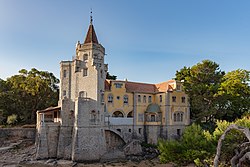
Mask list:
[{"label": "bare rocky ground along the foot of the castle", "polygon": [[172,164],[160,164],[157,150],[144,148],[143,156],[130,156],[128,160],[84,164],[65,160],[35,160],[35,145],[31,140],[11,139],[0,142],[0,167],[173,167]]}]

